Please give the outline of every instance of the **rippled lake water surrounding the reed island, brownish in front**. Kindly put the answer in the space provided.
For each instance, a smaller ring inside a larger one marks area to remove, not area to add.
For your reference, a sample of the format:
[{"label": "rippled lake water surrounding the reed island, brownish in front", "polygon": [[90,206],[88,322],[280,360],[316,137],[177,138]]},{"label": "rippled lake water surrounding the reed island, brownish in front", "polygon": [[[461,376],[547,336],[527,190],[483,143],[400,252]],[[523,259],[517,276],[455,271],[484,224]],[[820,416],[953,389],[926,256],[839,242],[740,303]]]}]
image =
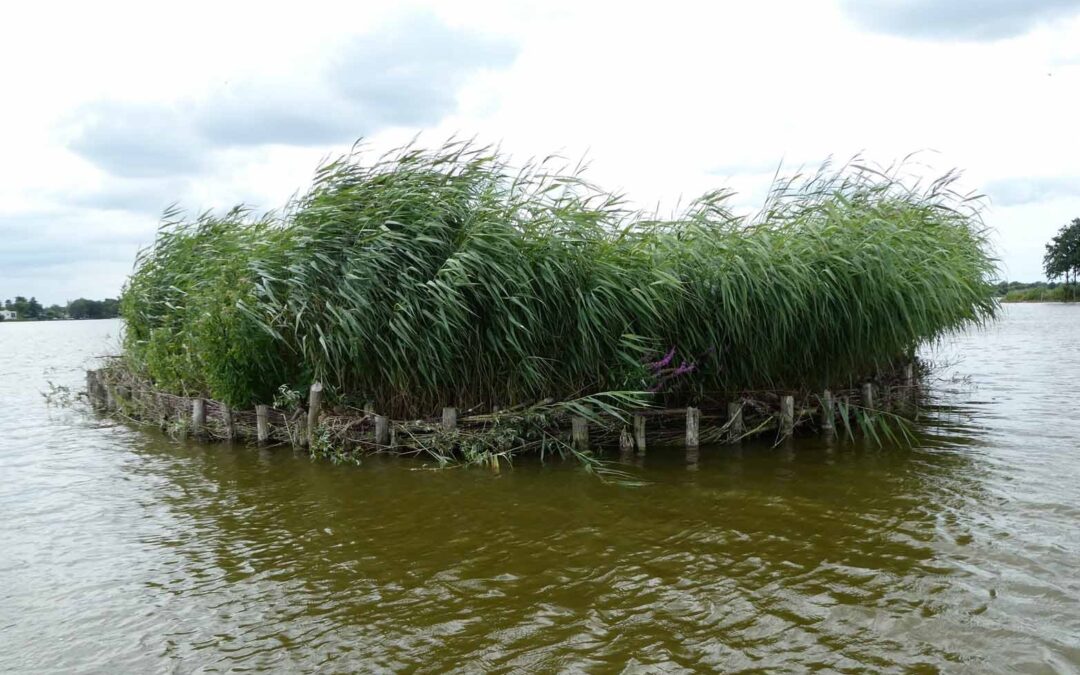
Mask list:
[{"label": "rippled lake water surrounding the reed island, brownish in front", "polygon": [[1080,306],[939,350],[915,448],[654,451],[642,488],[46,406],[119,328],[0,324],[2,673],[1080,669]]}]

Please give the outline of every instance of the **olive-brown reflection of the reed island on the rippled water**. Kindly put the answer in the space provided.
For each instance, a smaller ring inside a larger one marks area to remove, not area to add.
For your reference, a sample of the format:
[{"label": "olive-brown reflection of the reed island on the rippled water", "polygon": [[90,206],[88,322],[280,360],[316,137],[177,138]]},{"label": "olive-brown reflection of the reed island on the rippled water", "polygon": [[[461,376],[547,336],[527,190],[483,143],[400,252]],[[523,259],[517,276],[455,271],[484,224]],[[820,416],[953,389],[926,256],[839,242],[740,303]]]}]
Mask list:
[{"label": "olive-brown reflection of the reed island on the rippled water", "polygon": [[307,665],[912,665],[960,653],[908,632],[980,607],[934,546],[943,514],[984,489],[962,453],[652,449],[642,489],[572,465],[355,470],[163,438],[125,469],[163,478],[144,507],[171,526],[146,543],[164,568],[199,570],[161,588],[198,618],[174,617],[177,657],[240,632],[238,660],[267,666],[282,644]]}]

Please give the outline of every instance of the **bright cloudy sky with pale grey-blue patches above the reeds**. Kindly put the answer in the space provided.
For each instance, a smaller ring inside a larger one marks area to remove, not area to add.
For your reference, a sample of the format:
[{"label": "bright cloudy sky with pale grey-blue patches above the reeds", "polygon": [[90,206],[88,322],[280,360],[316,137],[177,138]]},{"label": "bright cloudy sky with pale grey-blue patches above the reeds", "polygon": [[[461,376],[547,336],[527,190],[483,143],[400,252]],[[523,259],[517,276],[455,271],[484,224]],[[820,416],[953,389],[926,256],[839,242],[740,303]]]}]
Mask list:
[{"label": "bright cloudy sky with pale grey-blue patches above the reeds", "polygon": [[173,203],[280,208],[321,161],[472,137],[649,211],[856,154],[985,194],[1001,276],[1080,217],[1080,0],[15,3],[0,299],[114,297]]}]

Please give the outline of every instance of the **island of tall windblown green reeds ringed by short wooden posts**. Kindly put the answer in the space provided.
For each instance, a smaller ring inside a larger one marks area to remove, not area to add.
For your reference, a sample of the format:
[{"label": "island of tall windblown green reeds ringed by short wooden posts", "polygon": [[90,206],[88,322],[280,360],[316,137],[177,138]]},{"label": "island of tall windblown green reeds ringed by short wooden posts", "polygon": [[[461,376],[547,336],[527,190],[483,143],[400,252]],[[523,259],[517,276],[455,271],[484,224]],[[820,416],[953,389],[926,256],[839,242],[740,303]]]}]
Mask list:
[{"label": "island of tall windblown green reeds ringed by short wooden posts", "polygon": [[338,458],[592,462],[888,431],[917,347],[997,310],[980,202],[953,174],[826,165],[754,216],[714,191],[661,218],[469,143],[365,160],[323,165],[281,212],[167,212],[92,401]]}]

